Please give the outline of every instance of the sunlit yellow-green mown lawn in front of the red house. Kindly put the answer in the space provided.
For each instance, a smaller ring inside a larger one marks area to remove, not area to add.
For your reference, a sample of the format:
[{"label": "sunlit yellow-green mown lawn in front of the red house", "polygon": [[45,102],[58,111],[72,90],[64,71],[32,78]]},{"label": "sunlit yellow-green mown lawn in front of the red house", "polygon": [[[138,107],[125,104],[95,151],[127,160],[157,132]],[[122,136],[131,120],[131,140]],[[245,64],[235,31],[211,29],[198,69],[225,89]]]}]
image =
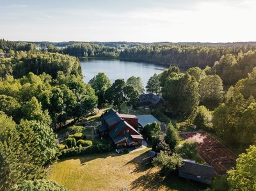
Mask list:
[{"label": "sunlit yellow-green mown lawn in front of the red house", "polygon": [[118,155],[102,153],[66,158],[52,165],[49,180],[72,190],[201,190],[204,185],[170,175],[162,178],[159,169],[141,165],[145,151]]}]

